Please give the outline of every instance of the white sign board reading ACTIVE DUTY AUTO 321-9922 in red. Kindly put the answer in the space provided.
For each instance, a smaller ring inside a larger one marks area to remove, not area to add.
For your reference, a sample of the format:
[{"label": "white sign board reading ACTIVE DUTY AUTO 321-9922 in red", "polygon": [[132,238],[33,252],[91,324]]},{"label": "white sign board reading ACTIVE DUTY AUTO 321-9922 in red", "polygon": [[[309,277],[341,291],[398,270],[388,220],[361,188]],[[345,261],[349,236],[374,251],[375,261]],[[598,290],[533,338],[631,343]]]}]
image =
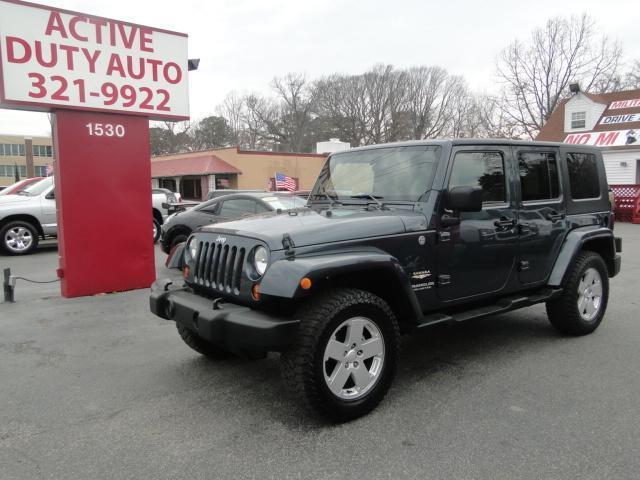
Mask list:
[{"label": "white sign board reading ACTIVE DUTY AUTO 321-9922 in red", "polygon": [[189,117],[187,36],[0,0],[0,106]]}]

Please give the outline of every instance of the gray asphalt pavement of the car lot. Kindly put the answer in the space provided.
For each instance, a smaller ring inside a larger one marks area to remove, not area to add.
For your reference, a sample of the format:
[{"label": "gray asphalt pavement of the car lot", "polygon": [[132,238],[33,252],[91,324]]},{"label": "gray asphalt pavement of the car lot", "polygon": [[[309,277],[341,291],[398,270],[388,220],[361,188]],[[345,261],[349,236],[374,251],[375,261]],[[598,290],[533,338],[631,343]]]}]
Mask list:
[{"label": "gray asphalt pavement of the car lot", "polygon": [[[594,334],[562,337],[535,306],[406,337],[383,403],[338,426],[285,394],[277,355],[191,351],[146,290],[19,280],[0,304],[0,479],[639,478],[640,225],[616,231]],[[0,256],[36,280],[56,264],[55,244]]]}]

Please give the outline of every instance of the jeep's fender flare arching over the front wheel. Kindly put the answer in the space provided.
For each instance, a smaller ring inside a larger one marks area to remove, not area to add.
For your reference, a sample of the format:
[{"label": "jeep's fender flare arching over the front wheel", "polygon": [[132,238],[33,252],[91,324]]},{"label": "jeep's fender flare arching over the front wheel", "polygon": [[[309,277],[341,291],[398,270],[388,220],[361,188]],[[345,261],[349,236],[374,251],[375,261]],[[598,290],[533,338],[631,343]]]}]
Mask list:
[{"label": "jeep's fender flare arching over the front wheel", "polygon": [[[378,249],[370,251],[331,252],[293,259],[277,260],[269,266],[262,281],[260,292],[283,298],[302,298],[308,291],[300,287],[300,280],[310,278],[312,285],[319,285],[334,276],[363,273],[367,271],[383,271],[396,283],[408,302],[415,318],[422,317],[418,299],[411,288],[409,277],[400,262]],[[312,287],[313,290],[313,287]]]}]

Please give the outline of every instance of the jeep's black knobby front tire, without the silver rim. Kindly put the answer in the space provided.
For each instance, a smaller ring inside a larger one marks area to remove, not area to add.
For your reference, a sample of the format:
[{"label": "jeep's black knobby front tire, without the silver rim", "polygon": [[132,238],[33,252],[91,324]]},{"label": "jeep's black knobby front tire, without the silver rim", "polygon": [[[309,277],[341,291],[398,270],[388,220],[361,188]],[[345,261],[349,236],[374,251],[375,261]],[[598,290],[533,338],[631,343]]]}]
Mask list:
[{"label": "jeep's black knobby front tire, without the silver rim", "polygon": [[[335,396],[325,382],[323,356],[334,330],[357,316],[375,323],[384,340],[385,358],[371,390],[358,399],[344,400]],[[389,305],[363,290],[335,289],[309,301],[297,318],[301,323],[296,340],[281,357],[286,387],[303,405],[335,422],[349,421],[373,410],[391,386],[400,353],[400,330]]]}]

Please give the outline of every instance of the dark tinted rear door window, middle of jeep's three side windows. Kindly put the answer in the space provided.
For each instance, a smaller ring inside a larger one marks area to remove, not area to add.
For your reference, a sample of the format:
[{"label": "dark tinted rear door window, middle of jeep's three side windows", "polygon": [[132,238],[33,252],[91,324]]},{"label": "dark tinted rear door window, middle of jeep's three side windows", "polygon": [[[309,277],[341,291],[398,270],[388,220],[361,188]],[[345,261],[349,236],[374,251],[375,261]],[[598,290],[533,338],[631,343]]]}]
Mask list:
[{"label": "dark tinted rear door window, middle of jeep's three side windows", "polygon": [[554,153],[520,152],[518,169],[523,201],[558,197],[558,165]]}]

